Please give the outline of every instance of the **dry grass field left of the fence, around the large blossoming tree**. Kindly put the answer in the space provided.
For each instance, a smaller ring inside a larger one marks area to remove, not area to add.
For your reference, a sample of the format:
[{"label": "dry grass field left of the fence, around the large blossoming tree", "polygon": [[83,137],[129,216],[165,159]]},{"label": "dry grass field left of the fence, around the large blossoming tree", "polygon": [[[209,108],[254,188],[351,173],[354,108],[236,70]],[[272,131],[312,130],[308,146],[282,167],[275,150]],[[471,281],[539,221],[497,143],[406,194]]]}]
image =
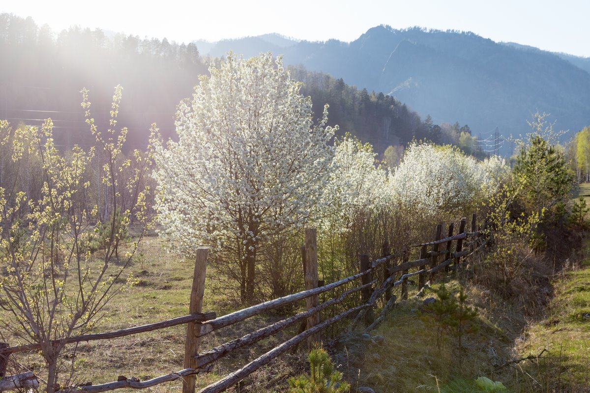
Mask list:
[{"label": "dry grass field left of the fence, around the large blossoming tree", "polygon": [[[138,279],[132,288],[120,293],[104,309],[104,318],[94,331],[106,332],[130,326],[163,321],[188,314],[188,302],[192,285],[194,262],[168,253],[163,241],[157,236],[142,240],[130,271]],[[208,267],[205,286],[204,311],[215,311],[217,315],[241,308],[229,296],[215,291],[211,280],[215,271]],[[2,312],[0,311],[0,318]],[[280,315],[267,313],[221,329],[204,337],[201,349],[209,349],[230,339],[245,335],[268,323],[281,319]],[[214,372],[197,377],[197,387],[217,381],[226,374],[260,356],[268,349],[280,344],[286,336],[292,336],[299,326],[265,339],[253,348],[242,349],[231,358],[222,359],[215,365]],[[116,381],[119,375],[137,377],[145,380],[183,368],[186,325],[179,325],[158,331],[140,333],[119,339],[81,343],[76,356],[71,358],[74,346],[66,353],[65,366],[74,362],[76,384],[91,381],[93,384]],[[17,342],[8,338],[9,344]],[[263,368],[257,376],[248,381],[256,384],[258,380],[270,383],[274,379],[286,381],[290,375],[301,371],[304,354],[282,356],[274,368]],[[40,378],[45,378],[44,362],[37,353],[12,355],[11,359],[27,369],[33,369]],[[16,368],[20,368],[14,364]],[[284,383],[286,385],[286,383]],[[254,385],[253,385],[254,386]],[[254,387],[252,391],[257,391]],[[168,382],[150,388],[151,392],[178,391],[181,382]]]}]

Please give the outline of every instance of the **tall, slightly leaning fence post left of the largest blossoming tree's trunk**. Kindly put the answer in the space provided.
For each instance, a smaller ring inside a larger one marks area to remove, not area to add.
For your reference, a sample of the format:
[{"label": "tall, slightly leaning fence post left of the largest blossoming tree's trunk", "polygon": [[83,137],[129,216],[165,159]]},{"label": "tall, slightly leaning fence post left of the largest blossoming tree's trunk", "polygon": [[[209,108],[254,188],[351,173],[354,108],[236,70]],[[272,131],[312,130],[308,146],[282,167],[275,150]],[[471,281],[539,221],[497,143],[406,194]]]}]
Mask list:
[{"label": "tall, slightly leaning fence post left of the largest blossoming tree's trunk", "polygon": [[[205,292],[205,272],[207,271],[207,247],[199,247],[196,250],[195,270],[192,276],[191,303],[189,314],[202,311],[203,294]],[[186,325],[186,344],[184,368],[198,368],[198,361],[193,357],[199,352],[201,339],[201,322],[189,322]],[[182,393],[194,393],[195,375],[188,375],[182,381]]]}]

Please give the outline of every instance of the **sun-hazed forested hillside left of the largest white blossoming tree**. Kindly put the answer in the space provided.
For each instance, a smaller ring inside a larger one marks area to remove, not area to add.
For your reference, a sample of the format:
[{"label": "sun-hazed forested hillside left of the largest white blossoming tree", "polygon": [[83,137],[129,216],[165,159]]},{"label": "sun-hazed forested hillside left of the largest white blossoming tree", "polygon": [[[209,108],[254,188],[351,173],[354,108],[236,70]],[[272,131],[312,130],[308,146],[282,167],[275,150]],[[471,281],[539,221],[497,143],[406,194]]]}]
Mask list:
[{"label": "sun-hazed forested hillside left of the largest white blossoming tree", "polygon": [[31,18],[0,15],[0,118],[15,125],[41,124],[51,117],[58,144],[80,143],[86,130],[80,108],[83,87],[96,105],[97,124],[107,124],[113,87],[123,86],[122,123],[133,146],[145,147],[156,122],[173,134],[175,107],[189,97],[198,75],[207,72],[194,44],[166,39],[106,37],[95,29],[70,28],[54,38],[47,26]]}]

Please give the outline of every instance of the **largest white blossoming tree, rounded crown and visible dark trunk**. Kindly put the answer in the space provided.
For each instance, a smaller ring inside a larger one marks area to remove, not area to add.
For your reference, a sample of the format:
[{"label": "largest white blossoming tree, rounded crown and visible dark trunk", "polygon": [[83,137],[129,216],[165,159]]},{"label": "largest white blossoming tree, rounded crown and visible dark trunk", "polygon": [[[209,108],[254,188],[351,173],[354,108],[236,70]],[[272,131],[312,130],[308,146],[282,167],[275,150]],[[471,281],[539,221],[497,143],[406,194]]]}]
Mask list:
[{"label": "largest white blossoming tree, rounded crown and visible dark trunk", "polygon": [[314,126],[280,57],[230,54],[201,77],[176,121],[178,142],[154,141],[163,235],[185,255],[198,246],[230,260],[240,297],[254,297],[265,239],[303,226],[321,202],[332,148],[327,107]]}]

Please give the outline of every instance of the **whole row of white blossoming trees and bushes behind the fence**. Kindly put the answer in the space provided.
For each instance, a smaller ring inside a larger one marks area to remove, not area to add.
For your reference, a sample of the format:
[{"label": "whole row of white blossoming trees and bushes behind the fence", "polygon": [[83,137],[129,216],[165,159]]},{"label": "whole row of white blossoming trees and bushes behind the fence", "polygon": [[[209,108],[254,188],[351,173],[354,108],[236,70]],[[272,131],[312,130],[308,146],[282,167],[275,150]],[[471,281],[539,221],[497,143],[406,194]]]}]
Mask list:
[{"label": "whole row of white blossoming trees and bushes behind the fence", "polygon": [[498,158],[418,143],[388,173],[370,145],[329,146],[337,128],[326,126],[327,105],[314,125],[280,57],[230,55],[209,71],[179,108],[179,141],[153,140],[159,217],[179,252],[205,245],[234,260],[242,300],[253,299],[257,255],[277,235],[312,225],[342,233],[359,212],[398,204],[452,213],[482,202],[507,173]]}]

